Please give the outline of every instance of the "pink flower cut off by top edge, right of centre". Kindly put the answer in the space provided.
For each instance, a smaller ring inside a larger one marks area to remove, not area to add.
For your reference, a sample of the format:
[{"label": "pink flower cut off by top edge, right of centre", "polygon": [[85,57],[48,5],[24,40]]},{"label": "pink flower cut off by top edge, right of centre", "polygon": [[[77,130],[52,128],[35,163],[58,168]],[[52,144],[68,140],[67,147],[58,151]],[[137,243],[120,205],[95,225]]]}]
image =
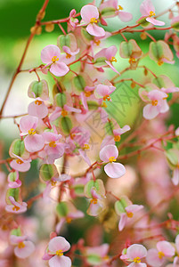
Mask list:
[{"label": "pink flower cut off by top edge, right of centre", "polygon": [[129,12],[124,12],[123,11],[123,7],[121,5],[118,5],[118,0],[108,0],[105,1],[104,3],[102,3],[100,5],[100,12],[102,12],[102,10],[110,10],[112,11],[112,9],[114,9],[113,12],[111,12],[111,14],[109,15],[109,12],[107,12],[107,15],[102,14],[102,17],[106,17],[106,18],[111,18],[114,16],[118,16],[118,18],[124,22],[130,21],[133,19],[133,15]]}]

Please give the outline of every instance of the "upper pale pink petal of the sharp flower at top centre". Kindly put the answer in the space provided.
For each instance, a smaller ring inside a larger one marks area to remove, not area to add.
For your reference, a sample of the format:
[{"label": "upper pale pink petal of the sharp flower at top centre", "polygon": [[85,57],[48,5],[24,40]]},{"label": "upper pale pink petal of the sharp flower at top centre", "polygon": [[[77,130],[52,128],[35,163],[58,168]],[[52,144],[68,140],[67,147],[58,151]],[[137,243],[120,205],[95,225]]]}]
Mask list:
[{"label": "upper pale pink petal of the sharp flower at top centre", "polygon": [[92,4],[86,4],[81,9],[81,17],[82,20],[84,20],[87,23],[90,23],[90,20],[92,18],[98,19],[99,18],[99,12],[96,6]]}]

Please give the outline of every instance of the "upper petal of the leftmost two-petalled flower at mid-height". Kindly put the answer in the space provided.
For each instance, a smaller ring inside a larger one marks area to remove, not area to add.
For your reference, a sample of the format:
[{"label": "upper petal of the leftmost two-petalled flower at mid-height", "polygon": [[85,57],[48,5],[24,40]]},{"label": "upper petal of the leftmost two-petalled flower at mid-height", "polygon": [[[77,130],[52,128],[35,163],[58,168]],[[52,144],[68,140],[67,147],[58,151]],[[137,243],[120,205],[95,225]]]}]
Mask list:
[{"label": "upper petal of the leftmost two-petalled flower at mid-height", "polygon": [[20,131],[28,134],[28,130],[36,129],[38,124],[38,118],[34,116],[24,116],[20,118]]}]

